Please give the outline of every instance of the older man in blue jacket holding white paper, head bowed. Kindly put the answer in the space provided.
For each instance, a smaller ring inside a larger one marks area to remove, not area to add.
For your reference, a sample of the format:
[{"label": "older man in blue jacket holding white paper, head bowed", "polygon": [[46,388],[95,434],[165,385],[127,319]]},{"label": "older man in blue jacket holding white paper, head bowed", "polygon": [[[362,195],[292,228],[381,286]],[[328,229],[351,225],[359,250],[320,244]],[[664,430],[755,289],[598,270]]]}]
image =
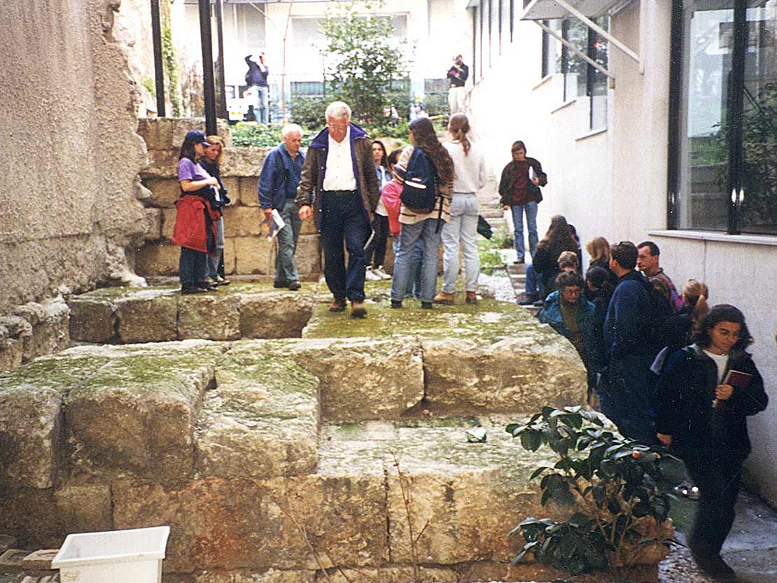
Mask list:
[{"label": "older man in blue jacket holding white paper, head bowed", "polygon": [[274,286],[289,288],[293,292],[301,287],[297,266],[294,264],[294,251],[297,250],[302,222],[294,198],[297,196],[305,155],[299,151],[302,143],[301,127],[286,124],[280,135],[284,141],[270,150],[259,174],[259,204],[267,220],[270,220],[275,209],[286,223],[277,234],[278,258],[275,262]]}]

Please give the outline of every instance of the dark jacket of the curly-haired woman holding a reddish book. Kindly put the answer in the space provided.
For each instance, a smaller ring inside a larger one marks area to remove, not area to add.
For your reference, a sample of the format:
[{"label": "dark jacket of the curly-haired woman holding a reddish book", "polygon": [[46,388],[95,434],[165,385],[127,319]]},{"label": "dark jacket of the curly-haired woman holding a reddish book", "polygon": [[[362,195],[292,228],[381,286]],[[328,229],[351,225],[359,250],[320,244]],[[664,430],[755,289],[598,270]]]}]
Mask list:
[{"label": "dark jacket of the curly-haired woman holding a reddish book", "polygon": [[715,361],[696,345],[671,355],[656,387],[656,430],[672,436],[672,449],[682,457],[744,459],[750,453],[746,418],[765,410],[768,396],[750,354],[732,351],[723,378],[729,370],[752,375],[750,384],[734,387],[730,399],[714,409]]}]

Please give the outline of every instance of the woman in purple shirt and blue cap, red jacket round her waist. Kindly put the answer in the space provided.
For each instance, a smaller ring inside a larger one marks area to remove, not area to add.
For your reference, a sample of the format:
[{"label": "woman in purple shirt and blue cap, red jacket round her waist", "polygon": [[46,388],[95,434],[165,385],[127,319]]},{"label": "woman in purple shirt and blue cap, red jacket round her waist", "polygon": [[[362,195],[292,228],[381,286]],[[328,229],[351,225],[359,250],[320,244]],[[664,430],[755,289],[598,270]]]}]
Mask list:
[{"label": "woman in purple shirt and blue cap, red jacket round her waist", "polygon": [[214,218],[211,208],[218,189],[218,180],[197,163],[205,155],[208,143],[201,131],[190,131],[183,138],[178,159],[178,181],[181,196],[176,201],[176,224],[172,229],[172,243],[181,247],[178,277],[182,294],[213,291],[207,285],[207,253],[213,253],[216,243]]}]

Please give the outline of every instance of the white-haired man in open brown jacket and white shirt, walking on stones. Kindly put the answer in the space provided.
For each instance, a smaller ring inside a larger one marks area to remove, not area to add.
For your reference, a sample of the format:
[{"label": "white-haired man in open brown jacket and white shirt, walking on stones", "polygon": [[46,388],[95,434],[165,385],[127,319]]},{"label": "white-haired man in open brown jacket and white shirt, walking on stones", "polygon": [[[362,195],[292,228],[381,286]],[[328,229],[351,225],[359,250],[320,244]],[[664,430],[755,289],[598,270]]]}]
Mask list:
[{"label": "white-haired man in open brown jacket and white shirt, walking on stones", "polygon": [[[308,221],[317,211],[324,249],[324,277],[334,301],[330,312],[367,316],[364,308],[364,245],[371,234],[378,204],[378,176],[368,135],[350,122],[350,107],[342,101],[326,108],[326,127],[313,138],[297,190],[299,218]],[[343,239],[348,250],[345,264]]]}]

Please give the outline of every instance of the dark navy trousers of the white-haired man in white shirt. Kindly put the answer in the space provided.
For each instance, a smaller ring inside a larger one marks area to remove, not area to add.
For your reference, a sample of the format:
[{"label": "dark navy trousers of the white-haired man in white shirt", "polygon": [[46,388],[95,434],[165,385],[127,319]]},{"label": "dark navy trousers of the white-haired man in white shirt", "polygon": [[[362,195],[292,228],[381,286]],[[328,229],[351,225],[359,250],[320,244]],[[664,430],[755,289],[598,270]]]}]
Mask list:
[{"label": "dark navy trousers of the white-haired man in white shirt", "polygon": [[[337,300],[364,302],[364,243],[370,224],[364,216],[364,202],[358,193],[322,192],[321,244],[324,249],[324,278]],[[348,250],[345,265],[343,239]]]}]

